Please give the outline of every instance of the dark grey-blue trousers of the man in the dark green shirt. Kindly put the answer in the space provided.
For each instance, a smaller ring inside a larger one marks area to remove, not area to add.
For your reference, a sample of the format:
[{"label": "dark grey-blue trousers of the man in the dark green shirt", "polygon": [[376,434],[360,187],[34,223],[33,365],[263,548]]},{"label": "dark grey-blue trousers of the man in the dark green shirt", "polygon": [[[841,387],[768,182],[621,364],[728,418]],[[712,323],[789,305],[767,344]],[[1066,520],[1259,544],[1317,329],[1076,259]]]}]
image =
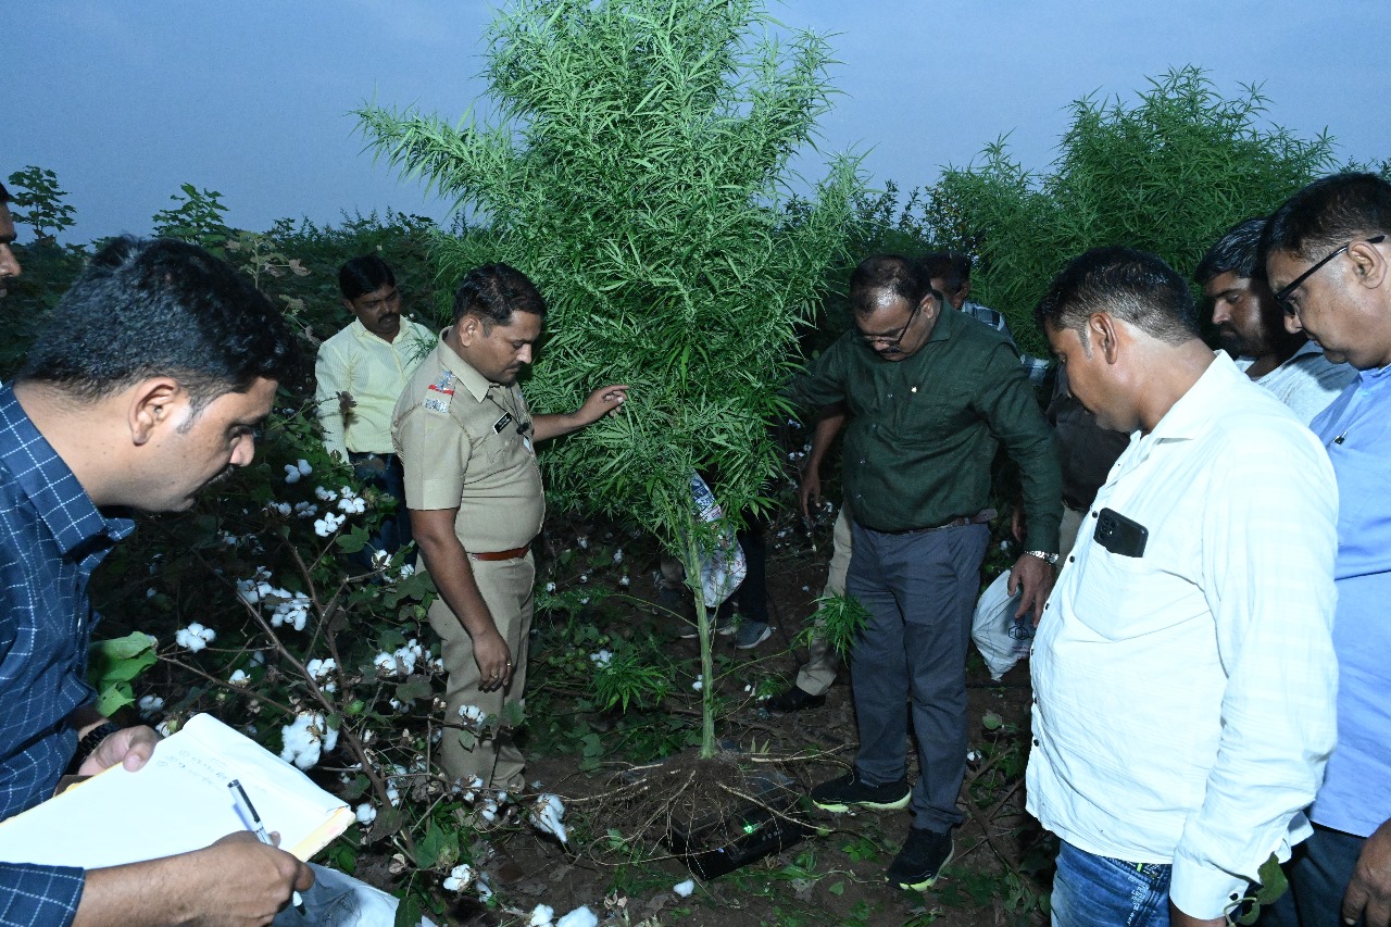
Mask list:
[{"label": "dark grey-blue trousers of the man in the dark green shirt", "polygon": [[965,774],[965,656],[981,589],[988,525],[886,534],[854,525],[846,592],[869,611],[850,651],[864,782],[904,778],[908,704],[921,774],[912,825],[946,832],[961,823]]}]

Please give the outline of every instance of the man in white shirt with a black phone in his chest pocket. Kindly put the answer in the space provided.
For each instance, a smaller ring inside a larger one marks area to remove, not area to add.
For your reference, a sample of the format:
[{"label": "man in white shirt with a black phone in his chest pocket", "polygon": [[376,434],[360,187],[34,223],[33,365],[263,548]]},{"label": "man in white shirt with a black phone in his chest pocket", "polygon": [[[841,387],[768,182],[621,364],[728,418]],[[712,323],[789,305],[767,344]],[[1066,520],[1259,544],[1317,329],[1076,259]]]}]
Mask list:
[{"label": "man in white shirt with a black phone in his chest pocket", "polygon": [[1035,309],[1072,394],[1131,443],[1034,644],[1028,807],[1053,919],[1221,924],[1334,745],[1337,487],[1294,413],[1198,337],[1184,280],[1096,248]]}]

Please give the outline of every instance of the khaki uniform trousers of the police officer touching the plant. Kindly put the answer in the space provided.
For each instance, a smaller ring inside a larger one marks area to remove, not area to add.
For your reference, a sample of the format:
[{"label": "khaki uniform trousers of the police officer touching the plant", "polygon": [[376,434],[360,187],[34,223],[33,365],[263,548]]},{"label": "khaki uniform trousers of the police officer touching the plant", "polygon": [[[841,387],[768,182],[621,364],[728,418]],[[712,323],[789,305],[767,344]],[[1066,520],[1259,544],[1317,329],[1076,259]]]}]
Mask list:
[{"label": "khaki uniform trousers of the police officer touching the plant", "polygon": [[[527,640],[531,632],[531,589],[536,583],[536,562],[526,557],[504,561],[470,560],[473,579],[479,583],[483,601],[492,612],[498,633],[508,642],[512,651],[512,682],[506,689],[483,692],[479,664],[473,658],[473,637],[463,629],[459,619],[445,604],[435,599],[430,605],[430,626],[444,642],[444,668],[448,672],[445,683],[445,721],[459,722],[459,707],[474,704],[484,714],[501,715],[509,704],[523,704],[526,695]],[[445,772],[455,778],[479,777],[487,788],[513,791],[524,785],[522,750],[513,742],[510,731],[499,731],[495,738],[477,740],[465,747],[459,740],[458,728],[445,728],[440,740],[440,754],[435,760]]]}]

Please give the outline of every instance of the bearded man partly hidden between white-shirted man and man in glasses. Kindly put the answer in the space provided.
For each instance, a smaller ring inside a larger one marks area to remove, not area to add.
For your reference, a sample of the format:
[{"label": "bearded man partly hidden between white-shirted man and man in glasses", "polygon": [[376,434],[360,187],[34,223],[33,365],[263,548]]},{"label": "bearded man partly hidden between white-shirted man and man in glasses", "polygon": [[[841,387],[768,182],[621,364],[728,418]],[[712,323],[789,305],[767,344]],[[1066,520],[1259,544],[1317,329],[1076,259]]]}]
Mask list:
[{"label": "bearded man partly hidden between white-shirted man and man in glasses", "polygon": [[1203,255],[1193,280],[1212,301],[1217,341],[1239,370],[1310,422],[1356,379],[1346,363],[1323,356],[1317,341],[1287,331],[1260,260],[1264,217],[1245,219]]}]

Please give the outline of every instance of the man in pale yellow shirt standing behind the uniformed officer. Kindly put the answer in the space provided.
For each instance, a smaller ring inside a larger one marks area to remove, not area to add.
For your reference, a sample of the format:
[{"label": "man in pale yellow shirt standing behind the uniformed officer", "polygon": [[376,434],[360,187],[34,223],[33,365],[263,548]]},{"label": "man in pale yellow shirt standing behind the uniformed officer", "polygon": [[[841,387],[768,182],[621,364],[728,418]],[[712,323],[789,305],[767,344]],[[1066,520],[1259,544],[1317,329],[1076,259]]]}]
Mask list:
[{"label": "man in pale yellow shirt standing behind the uniformed officer", "polygon": [[377,255],[353,258],[338,270],[352,324],[319,347],[314,401],[324,447],[351,462],[359,479],[396,500],[373,548],[395,553],[410,543],[401,461],[391,445],[391,411],[438,338],[426,326],[401,317],[396,276]]}]

